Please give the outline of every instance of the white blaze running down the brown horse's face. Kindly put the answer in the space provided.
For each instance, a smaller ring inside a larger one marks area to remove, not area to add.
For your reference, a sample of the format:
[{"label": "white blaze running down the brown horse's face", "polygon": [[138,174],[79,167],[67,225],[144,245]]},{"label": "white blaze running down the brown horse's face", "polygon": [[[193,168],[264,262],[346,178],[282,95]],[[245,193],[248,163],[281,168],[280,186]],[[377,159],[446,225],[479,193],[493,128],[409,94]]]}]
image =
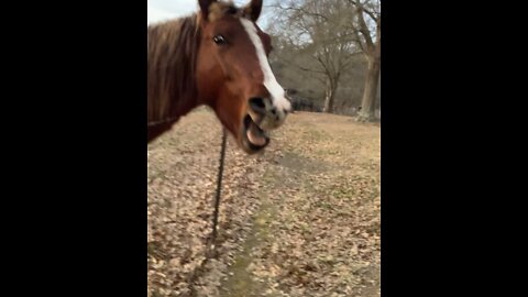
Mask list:
[{"label": "white blaze running down the brown horse's face", "polygon": [[272,72],[272,67],[270,67],[266,53],[264,52],[264,45],[262,44],[261,37],[258,37],[255,25],[246,19],[240,19],[240,21],[256,48],[256,56],[258,57],[264,74],[264,87],[266,87],[267,91],[271,94],[273,105],[280,111],[289,111],[292,109],[292,103],[286,99],[283,87],[280,87],[277,79],[275,79],[275,75]]}]

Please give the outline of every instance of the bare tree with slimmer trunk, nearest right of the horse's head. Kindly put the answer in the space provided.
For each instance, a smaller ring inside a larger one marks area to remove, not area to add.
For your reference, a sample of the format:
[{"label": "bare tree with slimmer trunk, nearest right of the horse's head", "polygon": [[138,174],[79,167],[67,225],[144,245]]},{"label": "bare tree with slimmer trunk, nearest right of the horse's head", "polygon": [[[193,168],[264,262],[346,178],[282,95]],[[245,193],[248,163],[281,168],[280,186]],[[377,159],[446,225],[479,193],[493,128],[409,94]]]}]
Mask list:
[{"label": "bare tree with slimmer trunk, nearest right of the horse's head", "polygon": [[[345,0],[279,1],[271,30],[289,47],[283,63],[297,68],[324,88],[324,112],[333,112],[343,72],[361,53],[350,20],[356,10]],[[306,57],[309,57],[307,59]]]}]

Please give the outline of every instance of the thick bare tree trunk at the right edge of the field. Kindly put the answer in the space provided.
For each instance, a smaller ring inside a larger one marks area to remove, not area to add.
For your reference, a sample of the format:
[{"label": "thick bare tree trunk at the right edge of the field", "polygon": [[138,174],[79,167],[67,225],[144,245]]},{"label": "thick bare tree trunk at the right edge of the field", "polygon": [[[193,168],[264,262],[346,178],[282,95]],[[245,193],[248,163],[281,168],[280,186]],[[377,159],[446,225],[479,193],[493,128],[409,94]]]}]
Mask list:
[{"label": "thick bare tree trunk at the right edge of the field", "polygon": [[369,70],[365,80],[365,91],[363,92],[363,101],[361,111],[358,114],[358,121],[367,122],[375,119],[377,89],[380,84],[380,58],[369,59]]}]

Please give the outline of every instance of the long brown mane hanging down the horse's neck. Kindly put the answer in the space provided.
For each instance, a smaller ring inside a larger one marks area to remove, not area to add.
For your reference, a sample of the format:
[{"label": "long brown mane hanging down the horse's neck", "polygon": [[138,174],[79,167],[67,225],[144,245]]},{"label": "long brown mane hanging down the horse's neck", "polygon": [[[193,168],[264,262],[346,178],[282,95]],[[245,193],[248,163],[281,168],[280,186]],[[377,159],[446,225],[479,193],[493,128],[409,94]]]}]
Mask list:
[{"label": "long brown mane hanging down the horse's neck", "polygon": [[197,105],[198,19],[147,26],[147,123],[176,121]]}]

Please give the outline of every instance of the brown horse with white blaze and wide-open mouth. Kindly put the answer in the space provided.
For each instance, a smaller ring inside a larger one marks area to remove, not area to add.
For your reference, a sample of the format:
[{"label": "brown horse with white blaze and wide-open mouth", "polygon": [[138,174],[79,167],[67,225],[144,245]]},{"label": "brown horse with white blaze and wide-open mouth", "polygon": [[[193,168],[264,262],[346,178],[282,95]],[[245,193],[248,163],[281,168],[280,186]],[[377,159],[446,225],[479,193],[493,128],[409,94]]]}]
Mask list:
[{"label": "brown horse with white blaze and wide-open mouth", "polygon": [[292,108],[267,61],[271,37],[255,23],[262,0],[198,2],[198,13],[147,29],[147,142],[205,105],[246,153],[258,152]]}]

